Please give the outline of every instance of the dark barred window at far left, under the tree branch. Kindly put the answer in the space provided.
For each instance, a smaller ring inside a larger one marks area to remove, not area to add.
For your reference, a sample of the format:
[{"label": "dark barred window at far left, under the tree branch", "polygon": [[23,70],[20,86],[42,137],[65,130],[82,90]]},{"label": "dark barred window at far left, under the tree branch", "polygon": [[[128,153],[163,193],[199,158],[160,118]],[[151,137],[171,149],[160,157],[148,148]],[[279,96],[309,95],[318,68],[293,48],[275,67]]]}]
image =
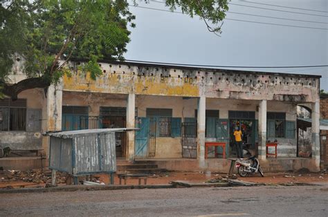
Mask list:
[{"label": "dark barred window at far left, under the tree branch", "polygon": [[26,131],[26,99],[0,100],[0,131]]}]

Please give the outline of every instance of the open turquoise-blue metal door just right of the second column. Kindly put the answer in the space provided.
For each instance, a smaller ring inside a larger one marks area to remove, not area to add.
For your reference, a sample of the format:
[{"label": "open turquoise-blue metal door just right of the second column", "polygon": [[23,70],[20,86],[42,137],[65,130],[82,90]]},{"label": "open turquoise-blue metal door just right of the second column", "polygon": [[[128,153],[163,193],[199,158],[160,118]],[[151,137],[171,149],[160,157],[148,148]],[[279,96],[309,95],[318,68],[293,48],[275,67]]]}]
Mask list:
[{"label": "open turquoise-blue metal door just right of the second column", "polygon": [[134,155],[136,158],[146,158],[149,140],[149,117],[138,117],[136,127],[140,130],[136,131]]}]

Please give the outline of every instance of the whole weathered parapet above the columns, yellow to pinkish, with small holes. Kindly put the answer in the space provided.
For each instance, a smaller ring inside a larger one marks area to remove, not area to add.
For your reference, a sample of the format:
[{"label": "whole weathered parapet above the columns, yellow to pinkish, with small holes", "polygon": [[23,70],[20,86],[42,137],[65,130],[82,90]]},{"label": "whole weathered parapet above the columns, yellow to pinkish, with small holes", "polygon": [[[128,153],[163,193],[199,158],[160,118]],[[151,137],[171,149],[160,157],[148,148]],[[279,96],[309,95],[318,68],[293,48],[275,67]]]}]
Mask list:
[{"label": "whole weathered parapet above the columns, yellow to pinkish, with small holes", "polygon": [[319,78],[307,75],[174,66],[100,65],[104,73],[95,81],[84,73],[65,76],[64,90],[183,97],[206,95],[285,102],[315,102],[318,98]]}]

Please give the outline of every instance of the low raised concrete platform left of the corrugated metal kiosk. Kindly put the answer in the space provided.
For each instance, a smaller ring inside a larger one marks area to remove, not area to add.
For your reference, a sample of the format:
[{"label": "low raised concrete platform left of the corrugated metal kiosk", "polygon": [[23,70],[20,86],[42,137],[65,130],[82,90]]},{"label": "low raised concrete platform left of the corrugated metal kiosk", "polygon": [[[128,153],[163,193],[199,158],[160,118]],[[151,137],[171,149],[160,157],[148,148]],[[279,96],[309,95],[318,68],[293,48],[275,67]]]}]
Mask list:
[{"label": "low raised concrete platform left of the corrugated metal kiosk", "polygon": [[27,171],[48,167],[48,159],[38,156],[0,158],[0,167],[10,170]]}]

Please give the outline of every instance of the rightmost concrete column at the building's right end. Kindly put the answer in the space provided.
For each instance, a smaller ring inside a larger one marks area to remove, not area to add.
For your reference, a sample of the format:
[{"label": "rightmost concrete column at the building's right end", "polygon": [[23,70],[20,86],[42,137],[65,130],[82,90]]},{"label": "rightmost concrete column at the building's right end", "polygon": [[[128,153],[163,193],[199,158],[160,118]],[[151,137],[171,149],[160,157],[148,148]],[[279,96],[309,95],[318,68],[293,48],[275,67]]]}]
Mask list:
[{"label": "rightmost concrete column at the building's right end", "polygon": [[316,171],[320,171],[320,100],[312,104],[312,159],[315,161]]}]

